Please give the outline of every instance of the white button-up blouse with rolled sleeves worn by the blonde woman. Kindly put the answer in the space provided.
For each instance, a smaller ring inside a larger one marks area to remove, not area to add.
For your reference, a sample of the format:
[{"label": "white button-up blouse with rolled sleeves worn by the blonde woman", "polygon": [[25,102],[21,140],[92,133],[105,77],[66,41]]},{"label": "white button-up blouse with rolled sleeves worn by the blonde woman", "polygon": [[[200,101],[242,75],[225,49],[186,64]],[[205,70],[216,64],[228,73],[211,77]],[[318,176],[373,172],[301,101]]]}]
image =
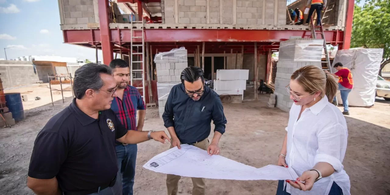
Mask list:
[{"label": "white button-up blouse with rolled sleeves worn by the blonde woman", "polygon": [[[348,130],[344,115],[323,97],[310,108],[306,108],[298,120],[301,106],[293,104],[290,110],[287,131],[286,164],[301,176],[319,162],[333,166],[335,172],[314,183],[312,190],[301,191],[287,184],[291,195],[328,195],[333,182],[344,195],[350,194],[349,176],[342,161],[347,149]],[[286,184],[286,182],[284,182]]]}]

